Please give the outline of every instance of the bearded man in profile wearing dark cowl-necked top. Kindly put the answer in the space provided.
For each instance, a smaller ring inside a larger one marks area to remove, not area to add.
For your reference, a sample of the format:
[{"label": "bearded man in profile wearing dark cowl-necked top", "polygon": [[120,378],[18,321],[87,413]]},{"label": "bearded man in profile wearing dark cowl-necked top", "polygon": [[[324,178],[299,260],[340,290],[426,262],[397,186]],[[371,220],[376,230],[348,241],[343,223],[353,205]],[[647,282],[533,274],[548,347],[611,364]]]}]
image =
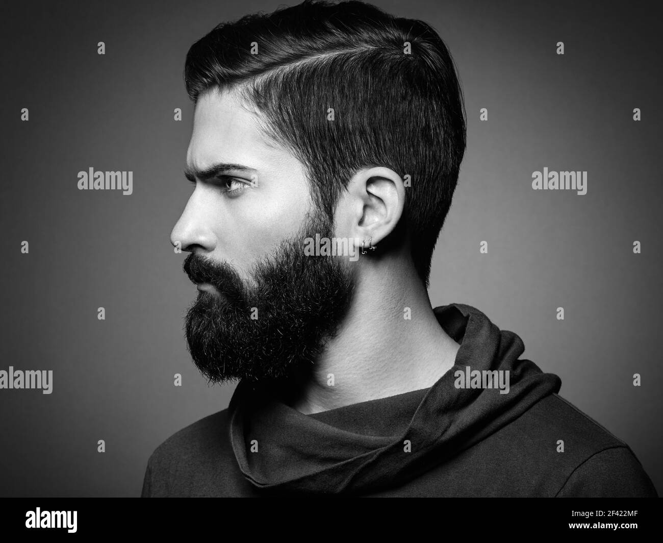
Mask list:
[{"label": "bearded man in profile wearing dark cowl-necked top", "polygon": [[154,451],[143,496],[656,495],[517,335],[431,307],[465,110],[428,24],[305,1],[215,27],[184,78],[186,339],[238,384]]}]

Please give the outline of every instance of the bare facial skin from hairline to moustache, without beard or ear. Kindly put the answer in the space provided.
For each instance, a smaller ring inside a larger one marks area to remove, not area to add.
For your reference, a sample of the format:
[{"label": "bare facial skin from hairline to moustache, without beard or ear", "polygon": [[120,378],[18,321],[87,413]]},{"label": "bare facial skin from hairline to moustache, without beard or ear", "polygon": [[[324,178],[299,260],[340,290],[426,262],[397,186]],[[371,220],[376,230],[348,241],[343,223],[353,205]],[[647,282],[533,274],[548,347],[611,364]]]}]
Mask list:
[{"label": "bare facial skin from hairline to moustache, without beard or ear", "polygon": [[[204,169],[225,162],[255,169],[234,173],[236,182],[197,182],[172,230],[171,240],[215,261],[227,260],[242,277],[261,255],[292,235],[312,210],[308,184],[299,161],[261,137],[255,118],[235,94],[207,93],[194,114],[187,165]],[[230,196],[227,187],[240,189]]]}]

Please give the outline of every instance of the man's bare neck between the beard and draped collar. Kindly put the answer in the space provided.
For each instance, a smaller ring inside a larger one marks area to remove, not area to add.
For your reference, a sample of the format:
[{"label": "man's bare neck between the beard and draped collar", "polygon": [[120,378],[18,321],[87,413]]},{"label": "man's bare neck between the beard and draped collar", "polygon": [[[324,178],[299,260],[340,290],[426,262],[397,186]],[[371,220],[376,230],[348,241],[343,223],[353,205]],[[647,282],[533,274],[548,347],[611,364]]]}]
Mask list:
[{"label": "man's bare neck between the beard and draped collar", "polygon": [[429,388],[455,362],[460,346],[438,323],[426,287],[412,281],[413,270],[362,271],[337,335],[284,393],[304,414]]}]

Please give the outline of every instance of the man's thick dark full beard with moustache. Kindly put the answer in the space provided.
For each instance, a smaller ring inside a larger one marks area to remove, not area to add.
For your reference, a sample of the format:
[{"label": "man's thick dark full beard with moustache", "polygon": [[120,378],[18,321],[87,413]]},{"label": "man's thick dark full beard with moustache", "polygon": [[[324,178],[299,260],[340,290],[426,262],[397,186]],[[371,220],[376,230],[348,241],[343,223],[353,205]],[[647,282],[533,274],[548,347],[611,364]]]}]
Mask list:
[{"label": "man's thick dark full beard with moustache", "polygon": [[184,328],[194,364],[209,382],[273,383],[310,371],[351,303],[355,278],[342,257],[306,256],[304,240],[330,238],[324,214],[259,260],[244,281],[226,262],[192,253],[184,271],[220,295],[199,291]]}]

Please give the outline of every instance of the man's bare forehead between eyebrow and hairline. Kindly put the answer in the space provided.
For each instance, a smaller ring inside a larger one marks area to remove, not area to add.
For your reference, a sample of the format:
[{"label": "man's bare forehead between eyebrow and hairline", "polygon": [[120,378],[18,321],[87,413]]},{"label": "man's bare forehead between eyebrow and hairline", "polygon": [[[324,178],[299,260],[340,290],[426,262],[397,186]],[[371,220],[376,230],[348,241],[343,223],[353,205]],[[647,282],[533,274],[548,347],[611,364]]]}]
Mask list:
[{"label": "man's bare forehead between eyebrow and hairline", "polygon": [[284,157],[290,153],[267,141],[259,117],[243,106],[236,90],[210,90],[200,95],[186,153],[188,165],[204,169],[223,161],[258,169]]}]

